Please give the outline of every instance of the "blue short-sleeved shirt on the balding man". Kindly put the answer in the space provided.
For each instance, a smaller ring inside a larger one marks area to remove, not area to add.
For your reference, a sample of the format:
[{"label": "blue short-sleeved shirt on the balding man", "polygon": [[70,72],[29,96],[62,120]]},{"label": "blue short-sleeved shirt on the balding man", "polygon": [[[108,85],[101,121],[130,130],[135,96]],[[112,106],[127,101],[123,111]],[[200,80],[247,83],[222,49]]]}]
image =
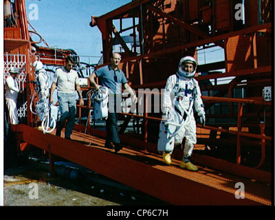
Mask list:
[{"label": "blue short-sleeved shirt on the balding man", "polygon": [[121,69],[113,69],[111,65],[101,67],[95,73],[100,80],[100,85],[107,87],[111,94],[121,94],[122,84],[127,83],[124,72]]}]

